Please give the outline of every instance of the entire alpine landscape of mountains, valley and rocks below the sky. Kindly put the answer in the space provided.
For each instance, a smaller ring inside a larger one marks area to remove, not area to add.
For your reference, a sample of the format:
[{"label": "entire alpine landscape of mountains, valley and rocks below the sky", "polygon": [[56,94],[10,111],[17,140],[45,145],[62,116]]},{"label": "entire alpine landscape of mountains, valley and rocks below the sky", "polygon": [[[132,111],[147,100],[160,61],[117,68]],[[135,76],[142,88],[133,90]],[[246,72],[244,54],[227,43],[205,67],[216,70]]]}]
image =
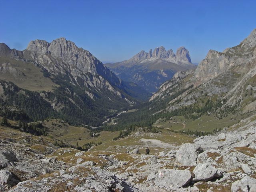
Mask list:
[{"label": "entire alpine landscape of mountains, valley and rocks below the sky", "polygon": [[106,66],[0,44],[1,192],[255,192],[256,29],[197,67],[184,47]]}]

